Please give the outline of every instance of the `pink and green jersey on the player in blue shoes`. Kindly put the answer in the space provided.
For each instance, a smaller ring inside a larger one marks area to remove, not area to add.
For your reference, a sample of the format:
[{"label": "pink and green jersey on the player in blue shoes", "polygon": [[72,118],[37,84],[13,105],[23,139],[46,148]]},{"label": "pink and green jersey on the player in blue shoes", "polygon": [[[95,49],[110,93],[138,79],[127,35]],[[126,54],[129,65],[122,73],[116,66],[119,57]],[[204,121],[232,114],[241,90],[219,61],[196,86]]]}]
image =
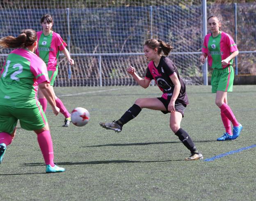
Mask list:
[{"label": "pink and green jersey on the player in blue shoes", "polygon": [[204,37],[202,52],[207,54],[208,63],[212,68],[223,69],[232,65],[233,59],[225,66],[222,66],[221,61],[235,51],[238,51],[238,48],[233,38],[225,32],[220,32],[216,37],[213,37],[212,34],[207,34]]}]

